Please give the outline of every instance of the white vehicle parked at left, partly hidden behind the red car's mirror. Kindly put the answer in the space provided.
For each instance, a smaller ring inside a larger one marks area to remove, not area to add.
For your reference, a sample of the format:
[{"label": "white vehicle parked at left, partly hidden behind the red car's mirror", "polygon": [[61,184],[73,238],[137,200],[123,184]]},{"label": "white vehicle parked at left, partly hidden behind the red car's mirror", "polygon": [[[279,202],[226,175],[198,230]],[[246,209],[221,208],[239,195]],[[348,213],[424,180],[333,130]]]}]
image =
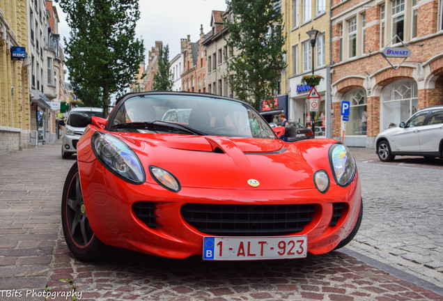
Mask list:
[{"label": "white vehicle parked at left, partly hidden behind the red car's mirror", "polygon": [[68,159],[77,153],[77,142],[85,128],[75,127],[70,123],[71,114],[86,114],[87,116],[103,117],[103,109],[96,107],[77,107],[70,110],[62,132],[61,157]]}]

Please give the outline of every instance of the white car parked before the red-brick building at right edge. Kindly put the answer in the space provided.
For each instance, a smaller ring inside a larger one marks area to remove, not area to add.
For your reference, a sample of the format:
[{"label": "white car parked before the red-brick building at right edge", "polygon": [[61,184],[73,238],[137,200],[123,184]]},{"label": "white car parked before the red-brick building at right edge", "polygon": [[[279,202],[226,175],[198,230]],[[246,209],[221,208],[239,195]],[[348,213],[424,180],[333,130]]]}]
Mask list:
[{"label": "white car parked before the red-brick building at right edge", "polygon": [[421,109],[398,127],[380,132],[375,145],[384,162],[396,155],[443,157],[443,105]]}]

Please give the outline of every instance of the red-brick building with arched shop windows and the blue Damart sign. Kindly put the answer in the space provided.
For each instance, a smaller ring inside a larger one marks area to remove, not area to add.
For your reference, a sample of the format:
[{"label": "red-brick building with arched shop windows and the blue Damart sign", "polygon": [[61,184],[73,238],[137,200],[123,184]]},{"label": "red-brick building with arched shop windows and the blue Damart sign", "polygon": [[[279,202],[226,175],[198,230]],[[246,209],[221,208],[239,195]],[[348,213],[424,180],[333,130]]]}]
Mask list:
[{"label": "red-brick building with arched shop windows and the blue Damart sign", "polygon": [[[333,137],[341,137],[342,100],[350,101],[345,144],[369,148],[379,132],[443,103],[442,4],[332,1]],[[381,54],[384,47],[404,46],[407,59]]]}]

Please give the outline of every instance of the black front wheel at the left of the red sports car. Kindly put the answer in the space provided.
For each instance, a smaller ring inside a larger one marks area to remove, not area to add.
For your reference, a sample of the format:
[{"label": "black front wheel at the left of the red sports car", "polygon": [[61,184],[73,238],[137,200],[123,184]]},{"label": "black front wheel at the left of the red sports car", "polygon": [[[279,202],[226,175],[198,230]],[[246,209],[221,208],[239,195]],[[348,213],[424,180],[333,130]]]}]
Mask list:
[{"label": "black front wheel at the left of the red sports car", "polygon": [[68,248],[80,261],[96,261],[104,244],[95,236],[86,215],[77,161],[72,165],[63,186],[61,223]]}]

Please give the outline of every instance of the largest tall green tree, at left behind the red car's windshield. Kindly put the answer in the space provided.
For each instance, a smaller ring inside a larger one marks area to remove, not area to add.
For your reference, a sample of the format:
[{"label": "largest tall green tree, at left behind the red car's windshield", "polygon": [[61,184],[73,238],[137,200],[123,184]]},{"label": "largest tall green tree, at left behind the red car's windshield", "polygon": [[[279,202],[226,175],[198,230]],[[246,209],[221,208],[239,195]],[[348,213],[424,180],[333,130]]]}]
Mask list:
[{"label": "largest tall green tree, at left behind the red car's windshield", "polygon": [[144,60],[143,40],[134,38],[138,0],[56,1],[71,29],[69,40],[65,38],[70,82],[75,88],[100,93],[107,116],[110,95],[121,95],[132,84]]}]

